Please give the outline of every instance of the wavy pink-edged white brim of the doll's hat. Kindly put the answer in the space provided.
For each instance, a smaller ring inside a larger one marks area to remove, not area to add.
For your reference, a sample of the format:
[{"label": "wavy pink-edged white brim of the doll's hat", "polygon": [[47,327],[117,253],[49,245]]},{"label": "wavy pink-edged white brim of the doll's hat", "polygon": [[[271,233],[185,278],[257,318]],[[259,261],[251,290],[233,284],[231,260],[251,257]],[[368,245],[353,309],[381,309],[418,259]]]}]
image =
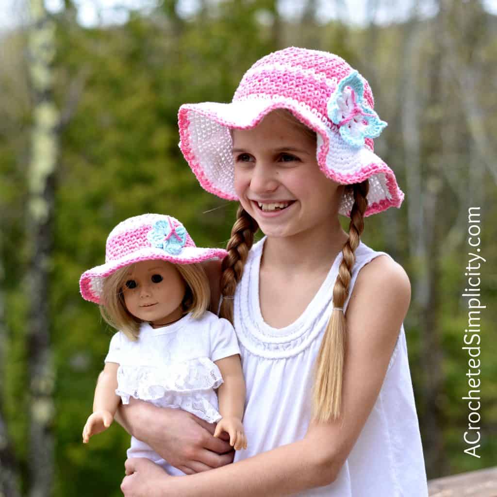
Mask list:
[{"label": "wavy pink-edged white brim of the doll's hat", "polygon": [[121,267],[142,260],[166,260],[174,264],[192,264],[209,259],[223,259],[227,254],[228,252],[222,248],[184,247],[178,255],[169,254],[161,248],[142,248],[85,271],[80,278],[81,295],[83,299],[99,304],[105,278]]}]

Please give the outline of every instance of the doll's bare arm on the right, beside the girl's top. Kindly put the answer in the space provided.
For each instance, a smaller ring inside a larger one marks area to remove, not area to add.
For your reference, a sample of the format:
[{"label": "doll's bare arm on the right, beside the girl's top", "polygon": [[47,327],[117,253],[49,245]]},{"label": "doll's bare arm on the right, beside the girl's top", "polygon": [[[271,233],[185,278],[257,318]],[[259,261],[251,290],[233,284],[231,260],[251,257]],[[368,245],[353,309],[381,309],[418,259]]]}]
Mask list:
[{"label": "doll's bare arm on the right, beside the girl's top", "polygon": [[219,413],[223,416],[216,426],[214,436],[226,431],[230,434],[230,445],[236,450],[247,448],[242,418],[245,407],[245,380],[240,355],[230,355],[215,361],[223,376],[218,389]]}]

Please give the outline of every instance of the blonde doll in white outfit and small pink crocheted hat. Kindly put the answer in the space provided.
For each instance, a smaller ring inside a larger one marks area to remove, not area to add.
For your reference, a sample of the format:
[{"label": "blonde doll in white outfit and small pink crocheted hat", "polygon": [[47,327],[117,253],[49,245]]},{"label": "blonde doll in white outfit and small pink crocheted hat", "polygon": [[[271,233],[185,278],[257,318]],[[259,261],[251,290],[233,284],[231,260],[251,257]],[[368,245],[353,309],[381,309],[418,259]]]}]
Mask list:
[{"label": "blonde doll in white outfit and small pink crocheted hat", "polygon": [[[195,247],[170,216],[136,216],[112,230],[105,264],[80,280],[83,298],[99,304],[103,318],[120,330],[110,342],[84,443],[110,426],[121,400],[134,397],[218,422],[214,436],[226,431],[235,449],[247,448],[240,349],[231,324],[206,312],[209,282],[199,264],[225,255]],[[184,475],[135,437],[127,455]]]}]

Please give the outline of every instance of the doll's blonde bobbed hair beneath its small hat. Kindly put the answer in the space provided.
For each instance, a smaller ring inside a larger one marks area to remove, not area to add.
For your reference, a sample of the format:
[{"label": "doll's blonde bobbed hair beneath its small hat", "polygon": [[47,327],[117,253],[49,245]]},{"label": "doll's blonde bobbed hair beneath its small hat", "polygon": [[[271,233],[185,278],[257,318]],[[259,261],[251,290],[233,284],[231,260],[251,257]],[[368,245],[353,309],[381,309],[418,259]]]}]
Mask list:
[{"label": "doll's blonde bobbed hair beneath its small hat", "polygon": [[[135,341],[140,332],[142,320],[133,316],[124,303],[122,287],[134,264],[121,267],[103,281],[100,297],[100,314],[116,330],[122,331],[130,340]],[[183,314],[192,313],[199,318],[208,309],[211,298],[209,280],[201,264],[174,264],[182,276],[186,290],[182,301]]]}]

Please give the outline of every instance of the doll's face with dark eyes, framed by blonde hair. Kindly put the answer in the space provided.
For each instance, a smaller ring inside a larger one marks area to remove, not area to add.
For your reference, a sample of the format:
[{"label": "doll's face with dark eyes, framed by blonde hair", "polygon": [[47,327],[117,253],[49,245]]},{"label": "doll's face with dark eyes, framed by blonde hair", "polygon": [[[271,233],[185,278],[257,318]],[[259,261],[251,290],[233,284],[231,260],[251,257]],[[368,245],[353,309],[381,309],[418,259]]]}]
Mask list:
[{"label": "doll's face with dark eyes, framed by blonde hair", "polygon": [[185,290],[185,282],[178,270],[165,260],[137,262],[122,286],[128,311],[154,328],[181,318]]}]

